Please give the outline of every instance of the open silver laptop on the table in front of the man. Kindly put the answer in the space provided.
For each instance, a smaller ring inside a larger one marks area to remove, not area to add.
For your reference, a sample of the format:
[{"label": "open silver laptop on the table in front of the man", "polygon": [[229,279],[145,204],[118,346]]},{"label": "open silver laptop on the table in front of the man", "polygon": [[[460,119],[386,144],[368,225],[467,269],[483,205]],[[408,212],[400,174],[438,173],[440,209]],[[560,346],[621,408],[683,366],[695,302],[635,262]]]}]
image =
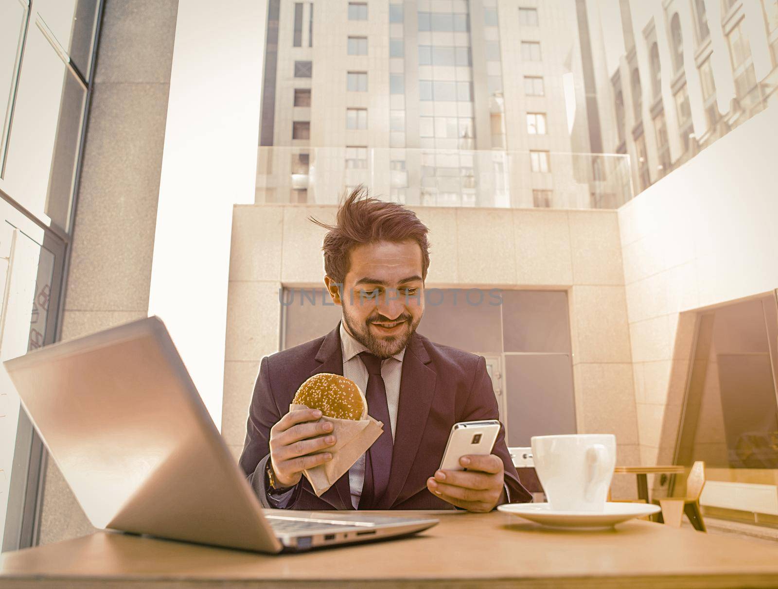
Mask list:
[{"label": "open silver laptop on the table in front of the man", "polygon": [[282,552],[410,535],[437,523],[263,510],[158,317],[3,364],[96,528]]}]

